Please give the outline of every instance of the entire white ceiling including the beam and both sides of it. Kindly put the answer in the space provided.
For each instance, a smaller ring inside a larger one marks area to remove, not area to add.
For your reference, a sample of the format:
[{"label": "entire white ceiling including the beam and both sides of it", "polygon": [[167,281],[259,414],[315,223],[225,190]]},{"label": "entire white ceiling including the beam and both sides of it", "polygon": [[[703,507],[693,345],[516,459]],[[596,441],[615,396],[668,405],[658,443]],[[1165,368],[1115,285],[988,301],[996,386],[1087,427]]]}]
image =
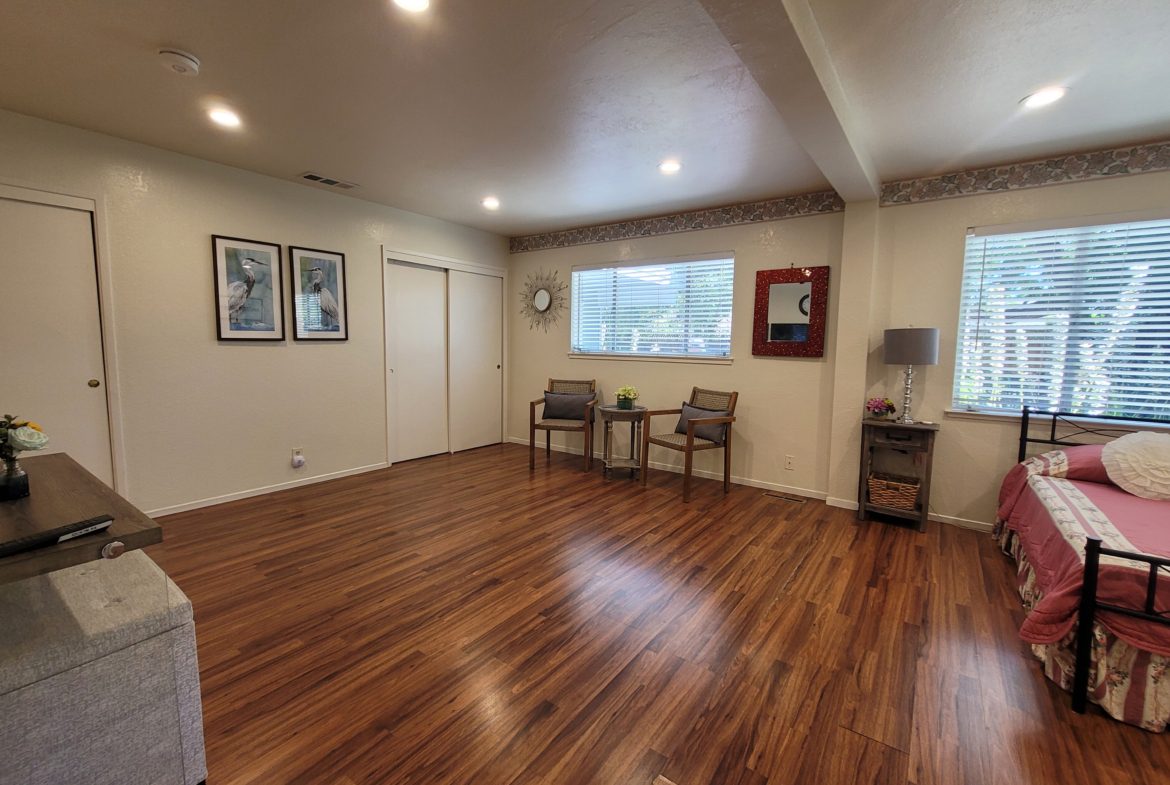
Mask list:
[{"label": "entire white ceiling including the beam and both sides of it", "polygon": [[0,108],[516,235],[1170,138],[1168,40],[1166,0],[4,0]]}]

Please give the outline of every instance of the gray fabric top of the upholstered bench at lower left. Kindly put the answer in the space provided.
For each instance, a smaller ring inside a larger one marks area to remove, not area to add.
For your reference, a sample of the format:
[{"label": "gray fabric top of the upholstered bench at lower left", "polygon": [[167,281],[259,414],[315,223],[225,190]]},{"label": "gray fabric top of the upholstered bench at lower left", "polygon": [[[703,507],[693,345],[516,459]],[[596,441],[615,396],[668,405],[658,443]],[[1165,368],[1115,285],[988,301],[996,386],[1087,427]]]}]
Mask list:
[{"label": "gray fabric top of the upholstered bench at lower left", "polygon": [[192,620],[191,601],[142,551],[0,585],[0,695]]}]

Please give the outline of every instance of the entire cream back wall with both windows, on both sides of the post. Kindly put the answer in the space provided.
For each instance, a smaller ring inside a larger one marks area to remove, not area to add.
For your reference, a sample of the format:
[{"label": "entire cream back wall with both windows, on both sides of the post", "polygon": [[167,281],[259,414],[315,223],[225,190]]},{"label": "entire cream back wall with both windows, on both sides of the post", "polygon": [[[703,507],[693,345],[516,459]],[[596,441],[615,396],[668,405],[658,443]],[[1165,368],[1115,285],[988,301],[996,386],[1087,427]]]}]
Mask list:
[{"label": "entire cream back wall with both windows, on both sides of the post", "polygon": [[[677,406],[696,384],[738,390],[732,463],[738,480],[812,496],[827,495],[833,503],[848,505],[856,493],[865,398],[886,394],[901,400],[900,369],[881,361],[882,331],[910,324],[937,326],[940,364],[917,369],[914,397],[917,419],[942,422],[935,453],[932,516],[961,525],[990,526],[999,481],[1016,460],[1018,425],[1011,419],[972,419],[944,411],[950,405],[955,369],[966,228],[1158,208],[1170,209],[1170,173],[880,209],[851,205],[856,214],[854,235],[859,236],[851,241],[853,250],[844,266],[842,232],[848,226],[848,213],[512,255],[511,297],[517,297],[525,276],[537,269],[555,269],[567,281],[573,264],[732,250],[735,363],[720,366],[570,359],[567,312],[548,333],[530,330],[518,312],[512,314],[508,433],[517,441],[528,441],[528,401],[539,397],[548,377],[596,377],[607,401],[613,400],[618,385],[633,384],[642,392],[639,402],[652,407]],[[870,264],[867,249],[873,247],[878,250]],[[755,273],[790,263],[833,268],[825,358],[753,358]],[[844,276],[853,277],[847,281]],[[848,297],[842,292],[849,292]],[[862,351],[866,346],[868,352]],[[842,360],[846,366],[834,367],[842,347],[849,350],[849,357]],[[579,436],[553,436],[555,443],[580,449]],[[794,471],[784,470],[786,454],[797,457]],[[654,452],[652,460],[679,463],[667,450]],[[718,474],[720,460],[717,452],[700,455],[696,468]]]}]

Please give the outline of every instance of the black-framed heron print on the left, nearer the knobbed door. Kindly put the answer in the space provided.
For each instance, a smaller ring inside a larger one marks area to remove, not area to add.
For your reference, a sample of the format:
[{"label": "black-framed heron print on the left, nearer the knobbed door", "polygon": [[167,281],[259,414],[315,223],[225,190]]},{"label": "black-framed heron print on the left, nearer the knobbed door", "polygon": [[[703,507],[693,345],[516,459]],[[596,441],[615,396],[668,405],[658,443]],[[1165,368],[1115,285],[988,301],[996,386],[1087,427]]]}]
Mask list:
[{"label": "black-framed heron print on the left, nearer the knobbed door", "polygon": [[281,247],[212,235],[220,340],[284,340]]}]

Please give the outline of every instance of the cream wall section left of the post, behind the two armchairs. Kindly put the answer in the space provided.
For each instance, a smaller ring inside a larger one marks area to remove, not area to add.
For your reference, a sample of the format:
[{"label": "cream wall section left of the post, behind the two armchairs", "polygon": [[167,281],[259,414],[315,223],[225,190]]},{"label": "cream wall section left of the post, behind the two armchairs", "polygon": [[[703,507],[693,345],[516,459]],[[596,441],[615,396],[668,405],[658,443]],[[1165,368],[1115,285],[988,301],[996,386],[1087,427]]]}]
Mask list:
[{"label": "cream wall section left of the post, behind the two armchairs", "polygon": [[[603,399],[613,402],[620,385],[634,385],[639,404],[651,408],[676,408],[694,386],[735,390],[736,409],[732,474],[755,483],[824,496],[827,462],[821,446],[828,441],[833,383],[833,339],[837,330],[835,287],[841,240],[840,214],[797,218],[702,232],[688,232],[633,241],[515,254],[511,256],[512,291],[508,296],[509,407],[508,434],[528,442],[528,402],[539,398],[550,377],[597,379]],[[556,270],[571,280],[573,264],[615,260],[660,260],[688,254],[735,253],[735,304],[731,316],[730,365],[649,360],[576,359],[569,357],[569,310],[548,332],[531,330],[519,316],[519,290],[536,270]],[[828,340],[823,358],[752,357],[751,324],[756,270],[790,264],[823,266],[830,273]],[[655,424],[674,431],[675,419]],[[655,428],[658,429],[658,428]],[[624,433],[624,428],[618,429]],[[600,449],[600,428],[597,446]],[[553,434],[555,443],[580,450],[579,434]],[[627,441],[622,440],[622,449]],[[652,461],[681,463],[680,453],[651,448]],[[784,469],[784,455],[793,455],[794,469]],[[722,452],[695,456],[695,469],[722,476]]]}]

